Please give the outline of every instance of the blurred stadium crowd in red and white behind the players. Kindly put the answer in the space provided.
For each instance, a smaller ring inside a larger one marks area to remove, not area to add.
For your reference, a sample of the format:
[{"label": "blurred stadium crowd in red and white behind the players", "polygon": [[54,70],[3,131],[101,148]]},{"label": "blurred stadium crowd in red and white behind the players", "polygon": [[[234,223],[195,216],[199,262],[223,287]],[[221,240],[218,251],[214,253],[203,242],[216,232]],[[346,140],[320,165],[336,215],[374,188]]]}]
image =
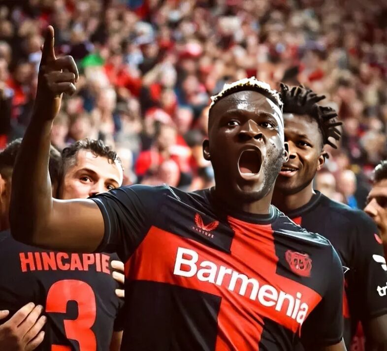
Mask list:
[{"label": "blurred stadium crowd in red and white behind the players", "polygon": [[316,187],[362,208],[387,156],[386,18],[383,0],[0,1],[0,146],[23,136],[51,24],[57,55],[80,71],[54,120],[58,149],[99,138],[121,157],[125,184],[208,187],[209,97],[250,76],[302,83],[344,122]]}]

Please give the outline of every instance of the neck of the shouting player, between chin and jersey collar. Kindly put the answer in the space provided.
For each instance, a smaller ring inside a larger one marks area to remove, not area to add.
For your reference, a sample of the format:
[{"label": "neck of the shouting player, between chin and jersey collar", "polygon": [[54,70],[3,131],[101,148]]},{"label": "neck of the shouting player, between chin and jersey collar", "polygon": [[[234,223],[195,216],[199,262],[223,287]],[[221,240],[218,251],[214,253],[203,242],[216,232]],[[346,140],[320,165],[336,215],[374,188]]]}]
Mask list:
[{"label": "neck of the shouting player, between chin and jersey collar", "polygon": [[262,199],[257,201],[246,201],[245,199],[236,199],[227,190],[222,190],[219,187],[214,189],[215,198],[226,204],[227,208],[243,211],[251,214],[269,214],[271,198],[273,196],[273,188]]}]

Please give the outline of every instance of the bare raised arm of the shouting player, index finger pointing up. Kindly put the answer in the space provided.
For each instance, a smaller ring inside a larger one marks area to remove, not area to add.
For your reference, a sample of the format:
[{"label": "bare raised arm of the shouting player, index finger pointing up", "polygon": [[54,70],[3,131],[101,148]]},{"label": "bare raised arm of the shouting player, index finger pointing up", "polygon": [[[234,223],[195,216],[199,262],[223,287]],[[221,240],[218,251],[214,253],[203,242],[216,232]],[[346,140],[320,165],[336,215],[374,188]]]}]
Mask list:
[{"label": "bare raised arm of the shouting player, index finger pointing up", "polygon": [[12,236],[24,243],[66,250],[93,251],[102,240],[104,224],[91,200],[52,198],[48,174],[50,133],[62,94],[76,90],[78,70],[70,56],[56,58],[54,29],[46,32],[31,122],[12,176],[10,225]]}]

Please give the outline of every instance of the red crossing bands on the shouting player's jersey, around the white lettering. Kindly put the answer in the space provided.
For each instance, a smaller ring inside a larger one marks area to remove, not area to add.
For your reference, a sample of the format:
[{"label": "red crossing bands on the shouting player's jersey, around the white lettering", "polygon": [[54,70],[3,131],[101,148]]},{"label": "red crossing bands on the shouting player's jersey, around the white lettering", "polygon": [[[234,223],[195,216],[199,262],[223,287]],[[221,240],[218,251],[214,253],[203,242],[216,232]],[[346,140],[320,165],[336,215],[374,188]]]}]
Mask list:
[{"label": "red crossing bands on the shouting player's jersey, around the white lettering", "polygon": [[[276,274],[278,258],[275,255],[273,234],[269,225],[246,224],[232,218],[229,222],[235,232],[231,255],[152,227],[125,264],[125,273],[129,280],[169,283],[221,296],[216,351],[257,350],[263,330],[263,318],[269,318],[293,332],[299,328],[299,323],[286,315],[288,301],[284,302],[280,311],[276,310],[276,306],[263,306],[257,299],[250,298],[253,290],[251,285],[247,286],[244,293],[240,293],[240,279],[230,290],[231,274],[225,274],[220,285],[202,281],[196,274],[190,277],[176,275],[174,268],[179,248],[197,253],[198,271],[201,268],[200,263],[203,266],[208,266],[208,262],[215,264],[216,279],[220,275],[220,267],[224,266],[233,272],[256,279],[259,289],[270,285],[277,291],[294,297],[297,292],[301,293],[302,301],[309,305],[308,314],[321,300],[321,296],[302,284]],[[191,258],[190,255],[184,256],[187,260]],[[184,267],[186,271],[191,270],[188,264],[179,267]]]}]

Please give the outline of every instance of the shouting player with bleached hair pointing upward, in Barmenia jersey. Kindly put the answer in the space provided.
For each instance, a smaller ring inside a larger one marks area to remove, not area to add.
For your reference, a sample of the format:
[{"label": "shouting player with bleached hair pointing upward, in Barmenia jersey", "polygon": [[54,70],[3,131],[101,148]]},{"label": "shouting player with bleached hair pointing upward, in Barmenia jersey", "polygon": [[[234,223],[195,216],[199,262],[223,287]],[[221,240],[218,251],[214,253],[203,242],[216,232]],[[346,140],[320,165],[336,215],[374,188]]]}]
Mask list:
[{"label": "shouting player with bleached hair pointing upward, in Barmenia jersey", "polygon": [[270,205],[288,156],[278,93],[245,79],[214,98],[203,144],[213,189],[135,185],[57,201],[46,166],[50,129],[76,72],[72,59],[55,58],[49,27],[13,175],[12,235],[118,253],[127,277],[122,350],[294,350],[301,326],[308,350],[345,350],[337,254]]}]

